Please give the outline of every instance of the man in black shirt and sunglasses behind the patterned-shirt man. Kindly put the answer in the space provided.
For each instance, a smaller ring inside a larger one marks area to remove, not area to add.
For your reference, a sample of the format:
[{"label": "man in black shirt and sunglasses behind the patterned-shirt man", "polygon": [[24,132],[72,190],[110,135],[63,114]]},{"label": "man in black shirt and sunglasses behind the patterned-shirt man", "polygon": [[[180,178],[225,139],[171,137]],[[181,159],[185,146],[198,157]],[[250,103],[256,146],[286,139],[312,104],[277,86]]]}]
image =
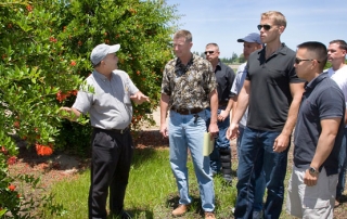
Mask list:
[{"label": "man in black shirt and sunglasses behind the patterned-shirt man", "polygon": [[[205,49],[206,60],[213,65],[215,76],[217,79],[218,91],[218,138],[215,139],[215,147],[209,155],[210,168],[213,173],[220,172],[224,178],[227,184],[231,184],[231,150],[230,142],[227,139],[227,130],[230,126],[230,110],[232,107],[232,93],[231,87],[235,79],[235,73],[228,65],[219,60],[219,47],[217,43],[208,43]],[[207,107],[206,112],[210,114],[210,108]],[[206,126],[209,126],[207,119]]]}]

